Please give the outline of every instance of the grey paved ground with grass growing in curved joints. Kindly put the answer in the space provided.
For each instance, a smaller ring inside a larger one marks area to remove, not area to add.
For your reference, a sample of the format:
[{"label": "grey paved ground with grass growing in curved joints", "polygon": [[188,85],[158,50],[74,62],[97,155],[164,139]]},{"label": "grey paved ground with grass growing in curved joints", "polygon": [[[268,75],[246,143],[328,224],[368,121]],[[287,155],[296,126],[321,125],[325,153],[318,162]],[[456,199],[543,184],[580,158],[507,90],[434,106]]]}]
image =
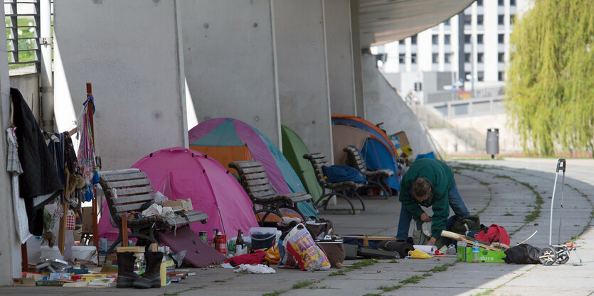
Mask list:
[{"label": "grey paved ground with grass growing in curved joints", "polygon": [[[482,224],[503,226],[512,245],[537,231],[526,243],[543,248],[549,241],[556,163],[556,158],[504,158],[450,165],[462,199]],[[343,274],[336,268],[304,272],[273,266],[277,273],[267,275],[193,268],[196,276],[160,289],[0,287],[0,295],[594,295],[593,171],[594,160],[568,159],[564,177],[558,174],[554,198],[552,241],[576,239],[580,266],[571,261],[550,266],[464,263],[455,256],[357,265],[361,259],[345,261]],[[338,202],[335,207],[341,207]],[[365,199],[365,204],[366,211],[355,215],[322,216],[333,221],[336,234],[396,236],[398,197]],[[571,256],[577,260],[576,252]]]}]

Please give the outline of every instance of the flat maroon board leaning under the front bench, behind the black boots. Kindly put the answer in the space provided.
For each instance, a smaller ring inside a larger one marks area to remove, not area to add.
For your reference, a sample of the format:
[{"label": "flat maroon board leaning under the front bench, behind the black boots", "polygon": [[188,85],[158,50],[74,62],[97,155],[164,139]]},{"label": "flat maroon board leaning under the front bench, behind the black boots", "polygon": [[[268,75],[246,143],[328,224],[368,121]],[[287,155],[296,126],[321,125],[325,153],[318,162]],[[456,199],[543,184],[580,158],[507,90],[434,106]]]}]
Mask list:
[{"label": "flat maroon board leaning under the front bench, behind the black boots", "polygon": [[175,253],[188,249],[184,260],[196,267],[205,267],[226,260],[225,255],[203,241],[189,226],[182,226],[169,233],[159,232],[159,241]]}]

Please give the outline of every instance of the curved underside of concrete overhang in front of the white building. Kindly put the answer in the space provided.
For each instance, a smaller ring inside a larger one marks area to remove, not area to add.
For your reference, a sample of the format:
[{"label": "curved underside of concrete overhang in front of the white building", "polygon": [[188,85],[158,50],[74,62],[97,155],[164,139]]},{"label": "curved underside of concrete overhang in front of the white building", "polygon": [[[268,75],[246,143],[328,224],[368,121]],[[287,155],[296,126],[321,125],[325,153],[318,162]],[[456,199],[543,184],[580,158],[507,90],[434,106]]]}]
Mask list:
[{"label": "curved underside of concrete overhang in front of the white building", "polygon": [[359,0],[361,48],[402,40],[466,9],[474,0]]}]

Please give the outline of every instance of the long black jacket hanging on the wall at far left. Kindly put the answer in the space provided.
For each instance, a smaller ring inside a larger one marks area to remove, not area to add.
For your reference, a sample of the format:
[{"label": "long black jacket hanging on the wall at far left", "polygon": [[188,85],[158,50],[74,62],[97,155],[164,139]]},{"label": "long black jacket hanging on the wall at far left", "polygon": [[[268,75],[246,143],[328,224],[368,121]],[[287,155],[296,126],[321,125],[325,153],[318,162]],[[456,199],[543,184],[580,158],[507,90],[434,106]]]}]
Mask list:
[{"label": "long black jacket hanging on the wall at far left", "polygon": [[18,176],[19,195],[25,200],[29,231],[41,236],[43,206],[57,197],[63,187],[41,128],[18,89],[11,88],[11,102],[18,159],[23,168],[23,174]]}]

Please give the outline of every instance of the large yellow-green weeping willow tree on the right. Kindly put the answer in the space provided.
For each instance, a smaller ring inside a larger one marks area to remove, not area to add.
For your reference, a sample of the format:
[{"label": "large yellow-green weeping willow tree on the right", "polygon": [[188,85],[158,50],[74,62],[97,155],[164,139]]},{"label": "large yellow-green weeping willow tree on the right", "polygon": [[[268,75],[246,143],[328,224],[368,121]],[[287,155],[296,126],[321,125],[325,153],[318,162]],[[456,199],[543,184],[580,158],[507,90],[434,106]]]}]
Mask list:
[{"label": "large yellow-green weeping willow tree on the right", "polygon": [[508,114],[526,152],[592,151],[594,2],[531,4],[511,33]]}]

